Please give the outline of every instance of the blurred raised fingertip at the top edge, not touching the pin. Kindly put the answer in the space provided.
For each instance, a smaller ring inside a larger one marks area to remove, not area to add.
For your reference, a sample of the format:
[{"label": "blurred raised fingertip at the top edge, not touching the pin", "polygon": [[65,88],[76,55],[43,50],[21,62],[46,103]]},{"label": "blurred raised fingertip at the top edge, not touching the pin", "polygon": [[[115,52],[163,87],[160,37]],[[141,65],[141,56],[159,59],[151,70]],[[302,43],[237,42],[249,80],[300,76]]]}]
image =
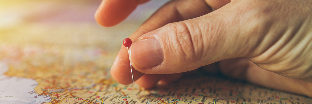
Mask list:
[{"label": "blurred raised fingertip at the top edge, not touching the pin", "polygon": [[138,0],[103,0],[95,12],[95,20],[104,27],[115,26],[138,6]]}]

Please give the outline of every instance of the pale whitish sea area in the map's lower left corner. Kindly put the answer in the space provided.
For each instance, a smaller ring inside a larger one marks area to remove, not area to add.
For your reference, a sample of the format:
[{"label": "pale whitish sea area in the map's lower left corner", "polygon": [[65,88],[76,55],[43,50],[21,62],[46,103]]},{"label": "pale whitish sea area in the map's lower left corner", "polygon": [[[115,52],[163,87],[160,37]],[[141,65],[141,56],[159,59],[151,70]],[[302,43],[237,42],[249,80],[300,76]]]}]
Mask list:
[{"label": "pale whitish sea area in the map's lower left corner", "polygon": [[41,104],[50,102],[51,97],[44,97],[34,93],[34,88],[38,85],[35,80],[3,75],[7,70],[7,65],[0,61],[1,104]]}]

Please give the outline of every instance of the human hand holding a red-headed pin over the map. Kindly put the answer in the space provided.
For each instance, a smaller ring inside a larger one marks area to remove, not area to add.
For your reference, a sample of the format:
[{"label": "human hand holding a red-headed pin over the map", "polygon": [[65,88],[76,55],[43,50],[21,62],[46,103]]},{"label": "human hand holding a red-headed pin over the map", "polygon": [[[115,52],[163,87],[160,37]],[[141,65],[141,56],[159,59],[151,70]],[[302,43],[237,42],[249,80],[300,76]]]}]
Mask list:
[{"label": "human hand holding a red-headed pin over the map", "polygon": [[[103,0],[95,18],[113,26],[147,1]],[[312,97],[311,12],[310,0],[173,0],[129,37],[130,53],[121,47],[111,75],[132,83],[131,62],[135,83],[151,88],[217,65],[226,76]]]}]

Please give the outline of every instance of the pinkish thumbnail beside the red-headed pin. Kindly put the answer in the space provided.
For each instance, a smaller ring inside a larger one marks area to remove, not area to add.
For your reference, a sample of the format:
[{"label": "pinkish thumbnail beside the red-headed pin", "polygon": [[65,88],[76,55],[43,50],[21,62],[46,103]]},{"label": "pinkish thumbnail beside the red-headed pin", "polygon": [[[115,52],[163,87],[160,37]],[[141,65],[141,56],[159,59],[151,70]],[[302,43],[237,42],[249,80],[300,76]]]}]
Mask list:
[{"label": "pinkish thumbnail beside the red-headed pin", "polygon": [[132,44],[130,57],[135,66],[148,69],[163,62],[163,50],[158,39],[145,39]]}]

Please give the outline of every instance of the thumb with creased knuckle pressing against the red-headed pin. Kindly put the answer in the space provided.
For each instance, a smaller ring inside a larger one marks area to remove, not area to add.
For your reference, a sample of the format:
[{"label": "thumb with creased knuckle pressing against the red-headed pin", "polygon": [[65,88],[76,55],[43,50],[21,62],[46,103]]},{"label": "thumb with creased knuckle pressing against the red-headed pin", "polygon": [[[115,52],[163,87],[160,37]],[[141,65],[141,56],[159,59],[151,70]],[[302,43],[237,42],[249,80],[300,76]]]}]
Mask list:
[{"label": "thumb with creased knuckle pressing against the red-headed pin", "polygon": [[133,67],[146,74],[170,74],[261,54],[276,36],[267,36],[263,43],[268,27],[261,24],[269,21],[259,19],[261,10],[244,9],[242,5],[246,4],[234,1],[204,16],[170,23],[142,35],[130,47]]}]

